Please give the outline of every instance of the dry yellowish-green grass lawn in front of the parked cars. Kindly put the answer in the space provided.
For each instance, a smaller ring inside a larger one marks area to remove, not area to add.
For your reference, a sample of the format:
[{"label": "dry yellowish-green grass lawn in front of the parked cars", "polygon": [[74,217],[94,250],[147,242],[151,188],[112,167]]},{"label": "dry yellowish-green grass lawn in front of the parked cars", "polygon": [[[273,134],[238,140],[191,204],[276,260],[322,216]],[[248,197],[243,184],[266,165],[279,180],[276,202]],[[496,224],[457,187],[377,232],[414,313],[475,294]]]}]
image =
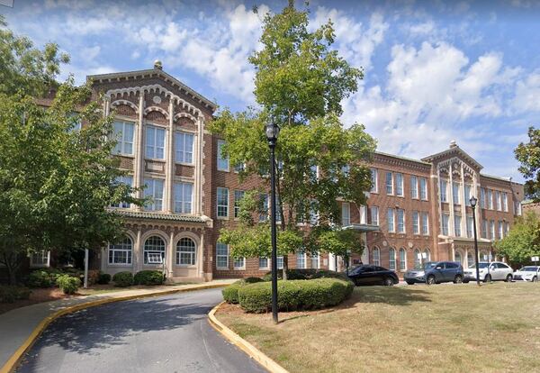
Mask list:
[{"label": "dry yellowish-green grass lawn in front of the parked cars", "polygon": [[333,309],[217,314],[291,372],[540,371],[540,286],[356,287]]}]

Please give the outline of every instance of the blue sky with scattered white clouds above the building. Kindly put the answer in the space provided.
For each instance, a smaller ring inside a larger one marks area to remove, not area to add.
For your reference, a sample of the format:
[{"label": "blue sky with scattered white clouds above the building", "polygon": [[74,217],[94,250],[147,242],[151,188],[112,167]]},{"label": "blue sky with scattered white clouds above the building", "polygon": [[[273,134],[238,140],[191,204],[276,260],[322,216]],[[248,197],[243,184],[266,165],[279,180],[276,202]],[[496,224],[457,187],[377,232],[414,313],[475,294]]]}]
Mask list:
[{"label": "blue sky with scattered white clouds above the building", "polygon": [[[56,42],[71,56],[61,79],[73,74],[83,83],[160,59],[187,86],[241,111],[255,104],[247,58],[261,48],[262,17],[287,2],[13,3],[0,14],[14,32],[38,46]],[[523,181],[513,150],[540,122],[540,1],[312,0],[308,7],[311,29],[330,19],[332,48],[364,68],[358,91],[343,101],[346,126],[363,123],[378,150],[415,159],[455,140],[483,173]]]}]

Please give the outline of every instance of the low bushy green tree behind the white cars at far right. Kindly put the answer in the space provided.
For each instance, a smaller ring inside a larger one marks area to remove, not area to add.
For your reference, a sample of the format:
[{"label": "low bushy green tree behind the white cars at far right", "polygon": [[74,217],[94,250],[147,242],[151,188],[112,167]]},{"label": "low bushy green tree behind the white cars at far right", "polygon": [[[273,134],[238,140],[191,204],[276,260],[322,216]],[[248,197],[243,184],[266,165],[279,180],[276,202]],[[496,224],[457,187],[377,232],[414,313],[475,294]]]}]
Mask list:
[{"label": "low bushy green tree behind the white cars at far right", "polygon": [[540,255],[539,232],[540,219],[529,212],[518,218],[507,237],[495,241],[495,248],[513,265],[530,263],[532,256]]}]

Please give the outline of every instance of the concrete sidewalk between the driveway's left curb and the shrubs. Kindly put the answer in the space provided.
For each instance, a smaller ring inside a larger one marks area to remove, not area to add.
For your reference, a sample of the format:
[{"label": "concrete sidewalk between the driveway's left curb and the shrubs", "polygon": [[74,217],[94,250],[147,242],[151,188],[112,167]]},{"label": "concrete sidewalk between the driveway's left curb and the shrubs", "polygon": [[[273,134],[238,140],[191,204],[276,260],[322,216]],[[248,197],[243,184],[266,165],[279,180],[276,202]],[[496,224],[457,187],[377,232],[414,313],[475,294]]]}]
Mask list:
[{"label": "concrete sidewalk between the driveway's left curb and the shrubs", "polygon": [[150,287],[146,289],[123,290],[114,293],[105,293],[95,296],[77,296],[73,298],[60,299],[51,302],[27,305],[16,308],[5,314],[0,314],[0,369],[14,355],[25,341],[31,336],[32,332],[47,317],[55,314],[67,307],[83,305],[89,302],[103,301],[124,297],[138,297],[159,294],[169,294],[184,290],[204,289],[211,287],[226,286],[234,280],[213,280],[202,284],[190,284],[167,287]]}]

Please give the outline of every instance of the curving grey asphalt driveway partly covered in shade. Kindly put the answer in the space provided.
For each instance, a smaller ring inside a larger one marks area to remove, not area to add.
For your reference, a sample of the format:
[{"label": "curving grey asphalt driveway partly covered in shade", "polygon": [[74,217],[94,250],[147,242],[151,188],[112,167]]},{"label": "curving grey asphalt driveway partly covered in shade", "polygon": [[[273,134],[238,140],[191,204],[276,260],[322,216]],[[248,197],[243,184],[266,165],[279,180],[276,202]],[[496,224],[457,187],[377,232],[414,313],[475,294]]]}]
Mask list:
[{"label": "curving grey asphalt driveway partly covered in shade", "polygon": [[220,289],[88,308],[49,325],[18,372],[266,372],[206,319]]}]

